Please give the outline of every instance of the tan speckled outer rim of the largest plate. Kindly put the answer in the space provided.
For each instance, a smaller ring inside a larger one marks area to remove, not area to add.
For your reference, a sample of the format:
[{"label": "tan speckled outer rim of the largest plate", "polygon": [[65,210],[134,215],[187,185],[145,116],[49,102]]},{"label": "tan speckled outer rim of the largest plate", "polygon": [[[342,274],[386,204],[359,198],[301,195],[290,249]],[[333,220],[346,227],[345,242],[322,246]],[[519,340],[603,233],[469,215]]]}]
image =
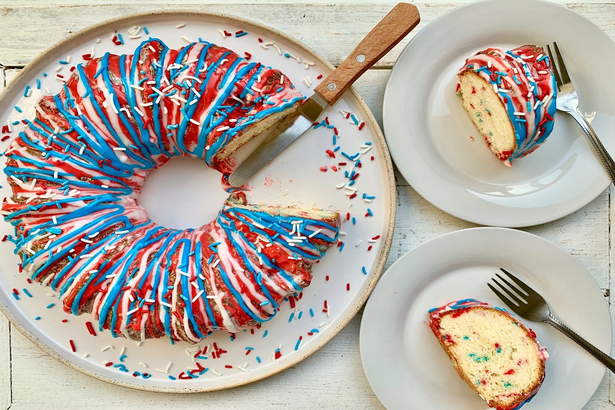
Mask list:
[{"label": "tan speckled outer rim of the largest plate", "polygon": [[[52,45],[51,47],[46,49],[44,52],[39,54],[32,61],[30,61],[30,63],[28,63],[28,65],[26,65],[25,68],[23,68],[22,71],[20,71],[20,73],[15,77],[14,81],[12,81],[2,91],[2,94],[0,95],[0,104],[3,104],[6,102],[5,101],[7,98],[6,96],[9,95],[9,93],[12,92],[12,90],[14,90],[15,88],[22,87],[23,84],[21,83],[23,82],[23,80],[26,79],[26,77],[30,76],[30,74],[33,73],[38,68],[39,63],[41,63],[47,57],[49,57],[51,53],[54,53],[55,50],[60,49],[60,47],[63,47],[64,45],[67,45],[70,42],[75,41],[79,37],[86,36],[92,31],[98,30],[100,28],[104,28],[105,26],[111,26],[114,24],[126,24],[132,21],[135,21],[135,20],[143,19],[143,18],[161,17],[161,16],[169,16],[169,17],[174,17],[174,18],[185,16],[185,17],[192,17],[192,18],[202,17],[202,18],[208,18],[208,19],[218,19],[218,20],[223,20],[223,21],[230,22],[230,23],[235,23],[237,25],[252,27],[252,28],[255,28],[256,30],[266,31],[272,36],[276,36],[280,39],[283,39],[284,41],[289,42],[290,44],[297,47],[298,49],[303,50],[312,59],[318,61],[320,64],[330,69],[331,71],[335,69],[335,67],[331,65],[331,63],[329,63],[327,60],[321,57],[314,50],[304,45],[302,42],[296,40],[295,38],[291,36],[288,36],[288,34],[282,33],[282,31],[276,30],[264,24],[256,23],[246,18],[240,18],[240,17],[236,17],[233,15],[221,14],[221,13],[200,12],[197,10],[172,10],[172,9],[171,10],[159,10],[156,12],[143,12],[143,13],[125,15],[122,17],[111,18],[109,20],[105,20],[103,22],[100,22],[95,25],[84,28],[81,31],[77,31],[77,33],[74,33],[66,37],[62,41],[57,42],[56,44]],[[393,231],[395,227],[395,204],[397,203],[397,191],[395,189],[395,176],[394,176],[394,171],[393,171],[393,163],[391,160],[391,154],[389,154],[389,149],[387,148],[386,141],[384,140],[383,132],[381,131],[378,123],[376,122],[376,119],[373,116],[373,113],[371,112],[370,108],[368,108],[367,104],[365,104],[365,101],[363,101],[363,99],[360,97],[359,93],[357,93],[354,87],[351,87],[350,92],[352,93],[352,97],[354,97],[355,100],[357,101],[357,104],[359,104],[359,106],[365,111],[365,114],[367,114],[366,120],[369,121],[371,127],[373,127],[375,134],[376,134],[376,139],[380,143],[380,148],[383,151],[384,167],[386,168],[386,173],[387,173],[387,177],[389,180],[389,195],[390,195],[389,223],[386,228],[386,238],[384,240],[383,249],[378,258],[378,262],[376,262],[375,269],[373,271],[373,274],[371,275],[371,279],[369,282],[365,284],[365,286],[363,286],[363,292],[359,295],[359,298],[357,299],[357,301],[355,301],[354,305],[349,307],[349,309],[346,309],[346,312],[341,313],[340,314],[341,322],[338,323],[338,325],[332,327],[332,329],[325,336],[320,338],[319,341],[317,341],[313,346],[311,346],[309,349],[301,350],[301,352],[295,352],[296,355],[295,355],[295,358],[293,358],[293,360],[287,361],[286,363],[284,363],[284,365],[280,365],[277,368],[273,368],[264,374],[258,374],[256,376],[252,376],[252,374],[248,373],[244,379],[241,379],[237,382],[231,382],[226,385],[221,385],[218,387],[207,387],[207,386],[204,386],[204,387],[156,387],[156,386],[140,385],[140,384],[122,382],[120,380],[116,380],[111,377],[102,376],[101,374],[90,371],[89,369],[82,368],[81,366],[76,365],[70,360],[66,360],[64,357],[62,357],[62,355],[55,352],[54,349],[50,348],[44,342],[39,340],[38,337],[36,337],[36,335],[33,332],[26,329],[25,326],[23,326],[22,323],[20,323],[17,317],[9,311],[9,308],[7,306],[0,304],[0,312],[4,313],[4,315],[9,319],[10,323],[13,326],[15,326],[15,328],[17,328],[17,330],[20,331],[20,333],[22,333],[23,336],[27,337],[28,339],[30,339],[31,342],[37,345],[39,349],[41,349],[43,352],[47,353],[51,357],[55,358],[55,360],[59,361],[60,363],[63,363],[64,365],[68,366],[69,368],[73,368],[87,376],[93,377],[94,379],[102,380],[103,382],[107,382],[109,384],[114,384],[114,385],[122,386],[122,387],[135,388],[137,390],[145,390],[148,392],[200,393],[200,392],[212,392],[214,390],[223,390],[226,388],[237,387],[240,385],[256,382],[258,380],[264,379],[269,376],[273,376],[274,374],[280,373],[281,371],[287,368],[290,368],[291,366],[294,366],[300,361],[309,357],[310,355],[312,355],[312,353],[316,352],[321,347],[323,347],[325,344],[327,344],[328,341],[333,339],[333,337],[335,337],[336,334],[338,334],[339,331],[341,331],[341,329],[343,329],[349,323],[349,321],[351,321],[352,318],[354,318],[357,312],[359,312],[359,309],[363,306],[365,301],[367,301],[367,298],[370,296],[371,291],[376,286],[376,282],[378,282],[378,279],[383,273],[384,264],[387,260],[387,257],[389,256],[389,251],[391,250],[391,244],[393,242]]]}]

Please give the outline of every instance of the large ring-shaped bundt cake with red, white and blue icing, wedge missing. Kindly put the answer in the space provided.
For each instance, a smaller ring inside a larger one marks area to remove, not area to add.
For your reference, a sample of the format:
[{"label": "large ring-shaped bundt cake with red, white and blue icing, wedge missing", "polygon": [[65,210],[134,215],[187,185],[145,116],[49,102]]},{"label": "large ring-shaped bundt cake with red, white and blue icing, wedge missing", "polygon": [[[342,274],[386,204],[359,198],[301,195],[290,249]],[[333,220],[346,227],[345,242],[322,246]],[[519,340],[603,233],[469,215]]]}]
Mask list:
[{"label": "large ring-shaped bundt cake with red, white and blue icing, wedge missing", "polygon": [[228,175],[229,155],[302,99],[280,71],[207,42],[149,39],[77,65],[6,151],[2,213],[20,270],[114,336],[197,342],[270,320],[309,285],[338,213],[256,207],[236,192],[214,221],[181,231],[153,223],[138,197],[172,156]]}]

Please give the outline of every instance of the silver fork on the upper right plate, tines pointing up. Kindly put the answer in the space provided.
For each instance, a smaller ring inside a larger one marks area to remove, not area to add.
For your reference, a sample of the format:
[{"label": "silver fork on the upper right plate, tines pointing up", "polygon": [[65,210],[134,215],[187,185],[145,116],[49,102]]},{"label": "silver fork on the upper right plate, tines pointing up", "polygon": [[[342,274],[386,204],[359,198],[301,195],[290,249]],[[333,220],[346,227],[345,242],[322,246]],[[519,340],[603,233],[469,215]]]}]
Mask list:
[{"label": "silver fork on the upper right plate, tines pointing up", "polygon": [[[605,146],[603,146],[600,142],[598,135],[596,135],[596,132],[589,124],[587,118],[585,118],[579,110],[579,97],[577,96],[576,90],[574,90],[572,81],[570,81],[568,70],[566,69],[563,58],[561,58],[560,49],[557,47],[556,42],[553,43],[553,47],[555,49],[555,56],[557,57],[557,64],[553,58],[551,47],[547,44],[547,53],[549,53],[549,59],[551,60],[551,66],[553,68],[553,73],[555,74],[555,81],[557,82],[558,88],[555,106],[559,111],[568,112],[568,114],[570,114],[576,122],[581,125],[581,128],[583,128],[585,134],[587,134],[587,138],[589,138],[589,141],[592,143],[593,148],[598,153],[602,164],[605,166],[606,172],[608,172],[611,177],[611,181],[615,183],[615,162],[613,162],[613,158],[611,158],[609,153],[606,152]],[[558,65],[560,66],[559,70],[557,68]]]}]

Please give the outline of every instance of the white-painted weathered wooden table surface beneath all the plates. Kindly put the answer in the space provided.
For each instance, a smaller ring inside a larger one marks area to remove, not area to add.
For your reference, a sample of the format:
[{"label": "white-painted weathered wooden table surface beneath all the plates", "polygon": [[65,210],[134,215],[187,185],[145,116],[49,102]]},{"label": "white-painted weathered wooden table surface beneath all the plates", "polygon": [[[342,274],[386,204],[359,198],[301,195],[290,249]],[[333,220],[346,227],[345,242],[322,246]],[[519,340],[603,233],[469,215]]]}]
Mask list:
[{"label": "white-painted weathered wooden table surface beneath all the plates", "polygon": [[[215,1],[215,2],[214,2]],[[410,1],[410,0],[407,0]],[[420,28],[464,0],[412,1]],[[615,39],[615,0],[558,2],[579,12]],[[378,0],[0,0],[0,87],[33,57],[69,33],[120,15],[154,9],[197,9],[250,18],[300,39],[338,65],[394,2]],[[395,47],[356,87],[379,122],[390,69],[411,38]],[[615,67],[613,68],[615,70]],[[608,138],[613,138],[609,136]],[[389,266],[421,242],[474,224],[447,215],[397,176],[397,223]],[[565,248],[596,278],[606,301],[613,286],[615,190],[607,189],[581,210],[525,229]],[[611,218],[613,214],[613,218]],[[100,382],[61,365],[0,315],[0,410],[75,408],[383,409],[365,378],[359,355],[360,314],[323,349],[286,371],[232,390],[192,395],[140,392]],[[615,377],[605,374],[585,409],[615,409]],[[434,409],[439,410],[439,409]]]}]

